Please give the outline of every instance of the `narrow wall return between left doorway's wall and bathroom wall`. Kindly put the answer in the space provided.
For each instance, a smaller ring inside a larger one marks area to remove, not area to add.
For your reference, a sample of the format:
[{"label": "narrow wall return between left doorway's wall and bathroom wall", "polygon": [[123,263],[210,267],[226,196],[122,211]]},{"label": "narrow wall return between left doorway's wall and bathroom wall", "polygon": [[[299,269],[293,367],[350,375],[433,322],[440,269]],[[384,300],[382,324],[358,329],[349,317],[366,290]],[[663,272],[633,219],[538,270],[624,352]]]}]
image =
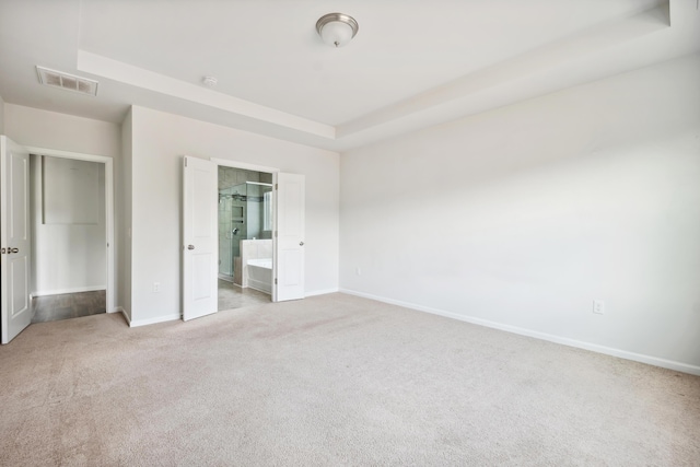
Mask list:
[{"label": "narrow wall return between left doorway's wall and bathroom wall", "polygon": [[132,178],[132,118],[131,109],[121,122],[121,177],[122,183],[116,191],[119,210],[117,218],[120,223],[116,230],[119,238],[119,255],[117,257],[117,268],[119,270],[118,303],[131,320],[131,178]]}]

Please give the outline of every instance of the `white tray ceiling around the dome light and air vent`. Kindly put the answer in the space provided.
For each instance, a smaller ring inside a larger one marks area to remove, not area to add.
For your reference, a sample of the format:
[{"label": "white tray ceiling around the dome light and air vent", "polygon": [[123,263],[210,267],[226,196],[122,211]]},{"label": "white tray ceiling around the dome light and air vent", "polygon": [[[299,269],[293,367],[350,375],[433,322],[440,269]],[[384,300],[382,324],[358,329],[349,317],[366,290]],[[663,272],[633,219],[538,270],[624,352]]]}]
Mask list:
[{"label": "white tray ceiling around the dome light and air vent", "polygon": [[[345,48],[314,28],[334,11],[360,24]],[[0,0],[8,103],[114,122],[143,105],[337,151],[699,51],[697,0]]]}]

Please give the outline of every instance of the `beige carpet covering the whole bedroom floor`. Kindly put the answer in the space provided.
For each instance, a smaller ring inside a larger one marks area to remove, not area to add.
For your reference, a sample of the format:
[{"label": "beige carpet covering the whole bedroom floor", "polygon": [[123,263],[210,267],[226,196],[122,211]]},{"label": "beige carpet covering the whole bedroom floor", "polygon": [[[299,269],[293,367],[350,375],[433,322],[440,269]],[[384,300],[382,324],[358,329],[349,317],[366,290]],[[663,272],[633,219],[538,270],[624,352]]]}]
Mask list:
[{"label": "beige carpet covering the whole bedroom floor", "polygon": [[7,466],[698,466],[700,377],[342,294],[0,348]]}]

